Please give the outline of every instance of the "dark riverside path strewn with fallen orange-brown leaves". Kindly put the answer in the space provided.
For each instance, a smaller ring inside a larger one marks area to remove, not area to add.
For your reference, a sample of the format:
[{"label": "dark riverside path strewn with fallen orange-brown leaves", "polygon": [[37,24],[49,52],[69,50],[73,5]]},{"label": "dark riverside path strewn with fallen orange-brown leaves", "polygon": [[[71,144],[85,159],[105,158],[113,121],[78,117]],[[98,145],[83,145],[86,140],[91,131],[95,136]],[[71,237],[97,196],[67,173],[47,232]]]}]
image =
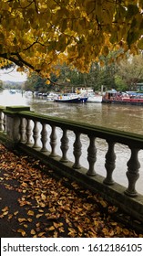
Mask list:
[{"label": "dark riverside path strewn with fallen orange-brown leaves", "polygon": [[1,237],[142,238],[137,227],[99,194],[0,144]]}]

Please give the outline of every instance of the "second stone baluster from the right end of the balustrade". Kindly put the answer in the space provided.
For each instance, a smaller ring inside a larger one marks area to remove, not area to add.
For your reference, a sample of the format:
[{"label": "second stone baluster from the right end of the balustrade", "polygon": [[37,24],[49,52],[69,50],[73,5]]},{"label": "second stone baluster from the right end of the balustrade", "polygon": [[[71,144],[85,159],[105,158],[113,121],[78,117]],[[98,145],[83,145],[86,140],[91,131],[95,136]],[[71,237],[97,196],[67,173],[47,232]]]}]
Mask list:
[{"label": "second stone baluster from the right end of the balustrade", "polygon": [[104,179],[103,182],[107,185],[112,185],[114,184],[112,174],[116,167],[116,154],[114,152],[115,142],[107,140],[107,145],[108,145],[108,150],[106,154],[106,164],[105,164],[105,167],[107,170],[107,177]]}]

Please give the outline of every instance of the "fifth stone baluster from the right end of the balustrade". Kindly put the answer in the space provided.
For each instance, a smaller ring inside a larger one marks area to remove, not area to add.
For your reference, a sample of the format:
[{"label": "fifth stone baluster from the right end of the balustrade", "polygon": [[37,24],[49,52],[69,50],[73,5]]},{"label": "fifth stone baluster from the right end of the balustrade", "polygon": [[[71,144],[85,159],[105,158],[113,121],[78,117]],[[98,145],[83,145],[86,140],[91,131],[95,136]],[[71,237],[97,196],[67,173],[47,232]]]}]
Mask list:
[{"label": "fifth stone baluster from the right end of the balustrade", "polygon": [[61,162],[68,162],[68,159],[67,159],[67,157],[66,157],[66,153],[67,153],[67,150],[68,150],[68,148],[69,148],[69,146],[68,146],[68,137],[67,137],[67,130],[66,129],[64,129],[63,130],[63,136],[62,136],[62,138],[61,138],[61,151],[62,151],[62,157],[61,157]]}]

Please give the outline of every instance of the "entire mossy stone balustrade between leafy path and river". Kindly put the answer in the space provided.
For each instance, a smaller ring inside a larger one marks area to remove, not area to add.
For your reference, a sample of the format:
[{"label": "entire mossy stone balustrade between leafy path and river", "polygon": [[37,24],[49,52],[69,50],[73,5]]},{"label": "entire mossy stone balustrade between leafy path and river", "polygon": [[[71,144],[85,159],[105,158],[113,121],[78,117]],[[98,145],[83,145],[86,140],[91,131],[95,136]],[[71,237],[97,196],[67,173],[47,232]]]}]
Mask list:
[{"label": "entire mossy stone balustrade between leafy path and river", "polygon": [[[7,142],[38,157],[84,187],[99,192],[108,201],[143,221],[143,195],[137,192],[142,135],[38,114],[31,112],[29,107],[6,107],[0,108],[0,139],[4,140],[4,137]],[[104,175],[96,166],[99,156],[97,140],[106,143],[106,153],[102,157]],[[126,145],[130,151],[125,167],[127,187],[113,178],[117,144]],[[87,158],[87,167],[82,165],[83,155]]]}]

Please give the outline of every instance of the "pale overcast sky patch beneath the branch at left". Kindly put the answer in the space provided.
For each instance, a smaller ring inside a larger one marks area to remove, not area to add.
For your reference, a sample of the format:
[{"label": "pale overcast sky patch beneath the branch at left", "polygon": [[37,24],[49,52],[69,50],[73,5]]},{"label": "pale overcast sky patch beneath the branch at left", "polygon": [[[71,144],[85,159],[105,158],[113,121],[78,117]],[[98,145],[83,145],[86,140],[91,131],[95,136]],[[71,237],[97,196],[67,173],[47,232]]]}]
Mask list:
[{"label": "pale overcast sky patch beneath the branch at left", "polygon": [[26,81],[26,73],[11,71],[11,69],[0,69],[0,80]]}]

